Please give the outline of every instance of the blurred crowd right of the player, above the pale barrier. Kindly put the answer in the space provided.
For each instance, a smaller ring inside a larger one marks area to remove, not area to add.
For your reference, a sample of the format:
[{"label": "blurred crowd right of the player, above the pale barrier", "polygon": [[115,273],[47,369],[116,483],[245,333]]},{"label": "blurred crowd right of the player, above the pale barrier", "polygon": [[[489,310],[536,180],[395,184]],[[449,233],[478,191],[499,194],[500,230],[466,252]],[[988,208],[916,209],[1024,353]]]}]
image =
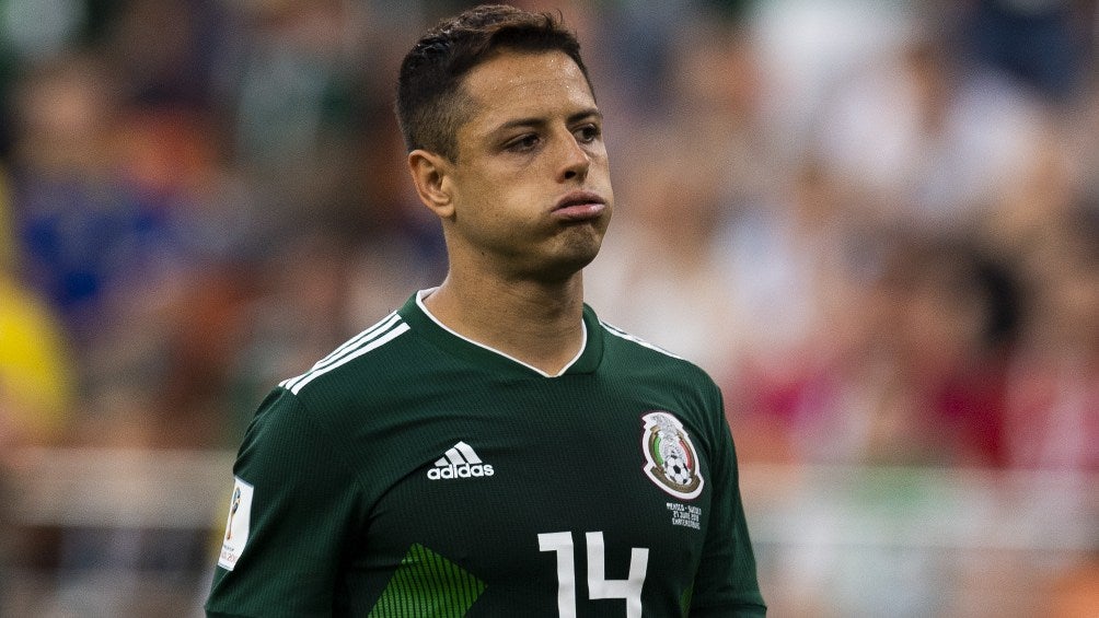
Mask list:
[{"label": "blurred crowd right of the player, above the pale barrier", "polygon": [[662,38],[589,297],[719,377],[742,459],[1099,469],[1096,15],[1040,4]]}]

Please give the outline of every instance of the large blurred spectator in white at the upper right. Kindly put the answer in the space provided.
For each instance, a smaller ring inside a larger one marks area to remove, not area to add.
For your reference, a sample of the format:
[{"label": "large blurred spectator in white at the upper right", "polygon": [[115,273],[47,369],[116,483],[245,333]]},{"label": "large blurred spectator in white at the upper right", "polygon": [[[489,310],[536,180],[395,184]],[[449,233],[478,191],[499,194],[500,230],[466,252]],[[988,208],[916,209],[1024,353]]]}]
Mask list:
[{"label": "large blurred spectator in white at the upper right", "polygon": [[1040,102],[914,32],[833,85],[815,123],[824,162],[868,193],[882,225],[969,226],[1026,165]]}]

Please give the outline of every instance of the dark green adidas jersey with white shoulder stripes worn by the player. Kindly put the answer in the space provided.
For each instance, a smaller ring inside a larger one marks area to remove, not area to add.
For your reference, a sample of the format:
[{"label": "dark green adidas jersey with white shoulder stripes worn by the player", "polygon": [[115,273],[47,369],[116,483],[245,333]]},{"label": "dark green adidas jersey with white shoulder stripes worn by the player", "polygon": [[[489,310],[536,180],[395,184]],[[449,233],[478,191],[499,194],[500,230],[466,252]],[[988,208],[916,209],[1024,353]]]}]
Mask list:
[{"label": "dark green adidas jersey with white shoulder stripes worn by the player", "polygon": [[762,616],[721,393],[584,311],[560,374],[423,293],[279,384],[211,616]]}]

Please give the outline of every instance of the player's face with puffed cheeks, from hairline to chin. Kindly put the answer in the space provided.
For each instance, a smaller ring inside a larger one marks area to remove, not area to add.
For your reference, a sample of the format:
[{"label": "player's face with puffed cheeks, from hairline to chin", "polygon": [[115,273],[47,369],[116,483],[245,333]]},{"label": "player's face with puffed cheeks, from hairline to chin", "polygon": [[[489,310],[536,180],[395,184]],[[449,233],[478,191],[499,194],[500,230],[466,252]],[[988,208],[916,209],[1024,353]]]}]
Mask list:
[{"label": "player's face with puffed cheeks, from hairline to chin", "polygon": [[613,204],[584,74],[559,52],[504,52],[463,83],[474,113],[452,168],[452,260],[506,277],[571,276],[599,251]]}]

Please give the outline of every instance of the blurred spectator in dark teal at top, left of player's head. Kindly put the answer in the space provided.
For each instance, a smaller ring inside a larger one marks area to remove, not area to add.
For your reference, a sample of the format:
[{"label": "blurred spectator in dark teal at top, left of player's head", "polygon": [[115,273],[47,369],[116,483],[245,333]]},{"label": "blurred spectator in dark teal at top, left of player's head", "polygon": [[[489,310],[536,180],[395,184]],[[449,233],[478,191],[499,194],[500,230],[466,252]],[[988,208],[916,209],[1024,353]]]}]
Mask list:
[{"label": "blurred spectator in dark teal at top, left of player's head", "polygon": [[315,203],[301,189],[347,155],[356,85],[380,68],[353,61],[363,59],[354,10],[340,0],[256,3],[241,15],[247,38],[224,58],[235,161],[274,182],[282,209]]}]

